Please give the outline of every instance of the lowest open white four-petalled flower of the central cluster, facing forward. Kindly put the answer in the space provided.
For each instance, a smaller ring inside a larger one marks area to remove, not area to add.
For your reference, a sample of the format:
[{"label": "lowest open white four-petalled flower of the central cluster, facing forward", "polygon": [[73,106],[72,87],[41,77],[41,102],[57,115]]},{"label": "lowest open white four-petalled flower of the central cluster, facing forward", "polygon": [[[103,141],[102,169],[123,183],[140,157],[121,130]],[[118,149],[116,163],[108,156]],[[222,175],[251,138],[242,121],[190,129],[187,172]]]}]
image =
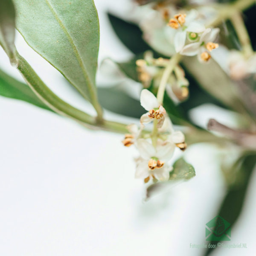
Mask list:
[{"label": "lowest open white four-petalled flower of the central cluster, facing forward", "polygon": [[[137,140],[137,148],[140,151],[140,158],[137,160],[135,172],[136,178],[148,179],[155,177],[157,180],[164,181],[169,179],[169,172],[172,166],[164,163],[171,159],[175,145],[170,142],[157,140],[157,147],[145,139]],[[145,180],[147,182],[148,180]]]}]

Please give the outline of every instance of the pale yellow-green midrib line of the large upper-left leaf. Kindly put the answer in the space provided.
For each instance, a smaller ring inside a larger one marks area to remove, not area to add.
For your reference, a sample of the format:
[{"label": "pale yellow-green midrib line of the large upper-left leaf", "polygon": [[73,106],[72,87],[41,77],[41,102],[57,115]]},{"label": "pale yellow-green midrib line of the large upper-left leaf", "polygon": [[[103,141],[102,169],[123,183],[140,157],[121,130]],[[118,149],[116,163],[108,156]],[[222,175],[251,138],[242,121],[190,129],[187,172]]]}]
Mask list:
[{"label": "pale yellow-green midrib line of the large upper-left leaf", "polygon": [[[85,67],[85,65],[84,65],[84,63],[83,63],[83,61],[82,61],[82,59],[81,59],[81,57],[80,57],[80,55],[79,55],[79,51],[78,51],[78,49],[77,49],[77,47],[76,47],[76,45],[75,45],[75,43],[74,43],[74,41],[73,41],[73,38],[72,38],[71,35],[69,34],[67,28],[64,26],[64,23],[63,23],[63,22],[61,21],[61,19],[58,17],[57,12],[55,11],[55,9],[54,9],[53,6],[52,6],[52,3],[50,3],[49,0],[45,0],[45,1],[46,1],[47,5],[48,5],[50,11],[51,11],[52,14],[54,15],[55,19],[57,20],[59,26],[61,27],[61,29],[64,31],[65,35],[67,36],[68,41],[70,42],[70,45],[71,45],[71,47],[72,47],[72,49],[73,49],[73,51],[74,51],[74,53],[75,53],[76,59],[77,59],[77,61],[78,61],[78,63],[79,63],[79,66],[81,67],[81,70],[82,70],[82,72],[83,72],[83,74],[84,74],[84,78],[85,78],[85,80],[87,81],[87,86],[88,86],[88,91],[89,91],[89,94],[90,94],[90,99],[93,100],[93,99],[95,98],[95,95],[94,95],[94,93],[93,93],[93,83],[92,83],[92,81],[90,80],[90,77],[88,76],[88,71],[87,71],[87,69],[86,69],[86,67]],[[71,81],[70,81],[70,82],[71,82]],[[73,83],[72,83],[72,84],[73,84]],[[76,84],[73,84],[73,85],[76,87],[77,90],[79,90],[79,92],[81,92],[82,95],[84,95],[84,92],[81,91],[80,88],[76,86]]]}]

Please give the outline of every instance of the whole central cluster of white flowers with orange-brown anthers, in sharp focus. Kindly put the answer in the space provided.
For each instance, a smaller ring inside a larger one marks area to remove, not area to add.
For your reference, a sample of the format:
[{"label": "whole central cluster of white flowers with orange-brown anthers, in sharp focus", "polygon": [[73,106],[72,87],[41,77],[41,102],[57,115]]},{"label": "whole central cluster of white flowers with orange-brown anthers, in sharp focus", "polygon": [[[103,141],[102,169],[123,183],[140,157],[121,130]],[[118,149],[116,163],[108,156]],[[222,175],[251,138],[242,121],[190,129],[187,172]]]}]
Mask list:
[{"label": "whole central cluster of white flowers with orange-brown anthers, in sharp focus", "polygon": [[[184,134],[174,131],[165,108],[149,90],[142,90],[140,103],[148,112],[141,116],[140,128],[134,124],[127,127],[130,134],[125,134],[123,144],[128,147],[135,145],[140,153],[136,160],[136,178],[144,179],[145,183],[168,180],[172,171],[168,161],[175,147],[186,149]],[[155,125],[152,133],[143,133],[145,124],[150,122]]]}]

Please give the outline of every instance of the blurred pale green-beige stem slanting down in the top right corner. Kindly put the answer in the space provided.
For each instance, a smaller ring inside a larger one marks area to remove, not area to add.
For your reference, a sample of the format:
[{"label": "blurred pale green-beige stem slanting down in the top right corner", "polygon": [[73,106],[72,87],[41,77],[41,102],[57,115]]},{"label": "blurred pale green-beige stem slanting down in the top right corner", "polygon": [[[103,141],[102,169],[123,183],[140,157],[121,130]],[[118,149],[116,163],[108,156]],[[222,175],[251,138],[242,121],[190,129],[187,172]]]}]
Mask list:
[{"label": "blurred pale green-beige stem slanting down in the top right corner", "polygon": [[244,56],[245,58],[249,58],[251,55],[253,55],[253,48],[241,13],[234,13],[234,15],[230,17],[230,20],[234,26],[234,29],[236,30],[236,35],[238,36]]}]

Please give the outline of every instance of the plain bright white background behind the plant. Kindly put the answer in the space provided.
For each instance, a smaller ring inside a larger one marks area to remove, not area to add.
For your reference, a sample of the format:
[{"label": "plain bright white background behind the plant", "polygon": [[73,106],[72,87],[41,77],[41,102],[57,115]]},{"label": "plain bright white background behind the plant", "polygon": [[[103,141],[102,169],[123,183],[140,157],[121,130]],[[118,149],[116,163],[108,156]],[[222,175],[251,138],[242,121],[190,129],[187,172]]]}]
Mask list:
[{"label": "plain bright white background behind the plant", "polygon": [[[104,13],[108,8],[125,12],[126,1],[95,3],[100,59],[131,56]],[[55,93],[93,111],[19,35],[16,44]],[[0,60],[2,69],[21,79],[3,50]],[[204,116],[203,123],[209,113]],[[0,97],[0,255],[201,255],[203,250],[189,244],[205,242],[205,224],[217,214],[225,192],[218,150],[190,147],[186,160],[195,166],[196,177],[145,202],[143,182],[134,179],[137,152],[123,147],[121,140],[121,135],[89,131],[54,113]],[[254,174],[231,236],[248,249],[216,250],[214,255],[255,255],[255,183]]]}]

